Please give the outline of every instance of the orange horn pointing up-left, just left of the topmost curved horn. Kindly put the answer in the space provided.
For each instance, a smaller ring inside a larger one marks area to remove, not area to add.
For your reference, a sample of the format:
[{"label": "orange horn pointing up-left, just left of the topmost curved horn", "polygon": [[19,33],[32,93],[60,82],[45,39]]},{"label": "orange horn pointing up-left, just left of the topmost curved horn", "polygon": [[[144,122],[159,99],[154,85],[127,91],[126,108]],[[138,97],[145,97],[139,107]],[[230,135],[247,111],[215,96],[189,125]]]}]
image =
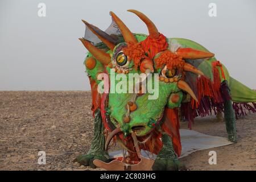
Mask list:
[{"label": "orange horn pointing up-left, just left of the topmost curved horn", "polygon": [[110,11],[110,15],[112,16],[115,23],[117,23],[119,29],[121,30],[123,38],[125,39],[125,42],[126,43],[129,43],[129,42],[138,43],[137,39],[135,38],[133,33],[131,33],[129,28],[126,27],[125,23],[123,23],[122,20],[119,19],[118,16],[115,15],[112,11]]}]

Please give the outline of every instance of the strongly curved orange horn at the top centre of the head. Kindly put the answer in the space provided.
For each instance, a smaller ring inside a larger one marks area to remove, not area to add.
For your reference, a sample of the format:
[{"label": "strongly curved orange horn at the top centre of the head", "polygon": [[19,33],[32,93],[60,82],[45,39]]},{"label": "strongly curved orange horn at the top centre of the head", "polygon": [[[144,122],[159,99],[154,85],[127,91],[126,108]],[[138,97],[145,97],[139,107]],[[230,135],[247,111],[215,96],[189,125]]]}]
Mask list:
[{"label": "strongly curved orange horn at the top centre of the head", "polygon": [[137,10],[127,10],[127,11],[134,13],[135,15],[139,16],[139,18],[141,18],[141,20],[146,24],[148,33],[150,34],[151,38],[154,38],[154,39],[159,38],[158,29],[156,28],[155,24],[149,18],[147,18],[146,15],[144,15],[143,13]]}]

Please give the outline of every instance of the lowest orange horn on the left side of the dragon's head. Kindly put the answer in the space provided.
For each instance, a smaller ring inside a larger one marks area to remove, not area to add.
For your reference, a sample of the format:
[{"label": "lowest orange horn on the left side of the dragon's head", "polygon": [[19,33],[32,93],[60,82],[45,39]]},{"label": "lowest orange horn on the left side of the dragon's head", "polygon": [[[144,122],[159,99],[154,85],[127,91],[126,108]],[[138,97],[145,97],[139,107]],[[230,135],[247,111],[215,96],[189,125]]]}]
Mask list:
[{"label": "lowest orange horn on the left side of the dragon's head", "polygon": [[101,49],[98,49],[97,47],[94,47],[90,42],[88,42],[85,39],[80,38],[82,44],[84,44],[84,47],[88,49],[90,53],[102,64],[109,64],[110,63],[110,55]]}]

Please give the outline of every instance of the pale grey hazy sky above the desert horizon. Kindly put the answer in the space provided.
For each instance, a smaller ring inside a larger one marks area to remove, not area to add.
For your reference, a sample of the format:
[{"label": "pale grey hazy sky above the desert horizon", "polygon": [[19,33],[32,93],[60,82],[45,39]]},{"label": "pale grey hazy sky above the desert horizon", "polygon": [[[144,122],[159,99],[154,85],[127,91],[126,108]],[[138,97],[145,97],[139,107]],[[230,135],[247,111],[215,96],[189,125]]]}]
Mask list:
[{"label": "pale grey hazy sky above the desert horizon", "polygon": [[[216,3],[217,17],[208,15]],[[46,4],[46,17],[38,4]],[[83,61],[85,19],[105,30],[114,11],[132,32],[146,33],[137,9],[168,38],[194,40],[256,88],[256,1],[0,1],[0,90],[89,90]]]}]

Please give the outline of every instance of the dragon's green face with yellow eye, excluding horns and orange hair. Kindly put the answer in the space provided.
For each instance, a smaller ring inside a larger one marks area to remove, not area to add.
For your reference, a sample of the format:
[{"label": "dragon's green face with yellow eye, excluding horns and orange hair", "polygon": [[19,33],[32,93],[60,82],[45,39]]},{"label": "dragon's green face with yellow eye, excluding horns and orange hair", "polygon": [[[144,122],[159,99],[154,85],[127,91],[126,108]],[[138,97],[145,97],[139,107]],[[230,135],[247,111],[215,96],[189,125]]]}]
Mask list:
[{"label": "dragon's green face with yellow eye, excluding horns and orange hair", "polygon": [[[134,61],[123,53],[126,43],[118,44],[112,53],[112,69],[108,68],[110,77],[109,93],[110,120],[115,127],[120,127],[124,135],[127,136],[134,132],[137,136],[143,136],[154,129],[162,118],[164,107],[176,107],[180,105],[182,93],[177,87],[177,81],[164,81],[179,79],[180,75],[163,69],[154,69],[152,75],[148,75],[139,88],[141,92],[135,93],[135,76],[143,74],[141,69],[134,68]],[[154,68],[154,65],[153,65]],[[165,73],[165,74],[164,74]],[[144,75],[146,76],[146,75]],[[111,79],[112,78],[112,79]],[[138,77],[137,77],[138,78]],[[162,79],[160,79],[162,78]],[[132,90],[132,93],[129,93]],[[175,93],[178,99],[171,100],[171,94]],[[151,99],[150,99],[151,96]]]}]

